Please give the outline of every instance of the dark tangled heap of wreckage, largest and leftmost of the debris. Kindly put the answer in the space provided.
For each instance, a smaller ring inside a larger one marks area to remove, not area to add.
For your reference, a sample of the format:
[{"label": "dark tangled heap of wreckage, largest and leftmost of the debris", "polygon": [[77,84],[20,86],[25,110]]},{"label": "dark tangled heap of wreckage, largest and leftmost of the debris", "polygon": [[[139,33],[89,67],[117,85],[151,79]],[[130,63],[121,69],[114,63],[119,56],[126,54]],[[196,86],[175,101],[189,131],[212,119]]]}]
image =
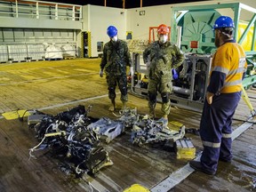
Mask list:
[{"label": "dark tangled heap of wreckage, largest and leftmost of the debris", "polygon": [[50,148],[52,154],[73,164],[76,174],[95,174],[102,167],[113,164],[98,135],[88,128],[92,124],[91,118],[87,116],[90,108],[86,110],[84,106],[78,106],[56,116],[45,115],[34,126],[40,143],[30,149],[30,156],[34,157],[32,152],[37,148]]}]

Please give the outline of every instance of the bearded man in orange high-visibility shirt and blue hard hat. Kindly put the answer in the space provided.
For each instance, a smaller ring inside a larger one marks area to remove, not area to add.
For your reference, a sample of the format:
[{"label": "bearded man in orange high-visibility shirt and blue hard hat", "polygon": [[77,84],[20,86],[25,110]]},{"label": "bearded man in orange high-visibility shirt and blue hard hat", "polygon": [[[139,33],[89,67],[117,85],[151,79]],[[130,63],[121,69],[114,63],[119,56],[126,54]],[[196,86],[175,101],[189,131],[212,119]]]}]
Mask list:
[{"label": "bearded man in orange high-visibility shirt and blue hard hat", "polygon": [[243,74],[247,68],[244,50],[233,38],[234,28],[233,20],[227,16],[220,16],[213,26],[218,49],[212,58],[200,123],[204,150],[200,162],[189,162],[195,170],[211,175],[216,173],[219,160],[232,160],[232,116],[241,97]]}]

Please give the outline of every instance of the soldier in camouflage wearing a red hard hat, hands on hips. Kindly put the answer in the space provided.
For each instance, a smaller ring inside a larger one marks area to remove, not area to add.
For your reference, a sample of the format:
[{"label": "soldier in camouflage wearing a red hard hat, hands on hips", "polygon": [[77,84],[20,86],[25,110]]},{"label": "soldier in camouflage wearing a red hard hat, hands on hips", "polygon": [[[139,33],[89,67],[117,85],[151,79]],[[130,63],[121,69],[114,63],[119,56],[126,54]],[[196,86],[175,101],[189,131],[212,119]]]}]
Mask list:
[{"label": "soldier in camouflage wearing a red hard hat, hands on hips", "polygon": [[156,95],[161,93],[164,124],[168,124],[172,92],[172,69],[178,68],[184,60],[180,49],[168,40],[169,28],[162,24],[157,28],[158,41],[149,44],[143,52],[143,60],[148,68],[148,108],[150,117],[155,117]]}]

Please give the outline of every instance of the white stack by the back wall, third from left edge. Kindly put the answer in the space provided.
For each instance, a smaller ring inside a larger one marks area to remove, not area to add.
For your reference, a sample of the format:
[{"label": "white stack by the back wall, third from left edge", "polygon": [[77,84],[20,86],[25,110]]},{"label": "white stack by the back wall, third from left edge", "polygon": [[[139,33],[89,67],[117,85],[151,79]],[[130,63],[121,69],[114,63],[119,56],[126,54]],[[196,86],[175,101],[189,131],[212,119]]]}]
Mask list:
[{"label": "white stack by the back wall, third from left edge", "polygon": [[28,44],[28,60],[44,60],[43,44]]}]

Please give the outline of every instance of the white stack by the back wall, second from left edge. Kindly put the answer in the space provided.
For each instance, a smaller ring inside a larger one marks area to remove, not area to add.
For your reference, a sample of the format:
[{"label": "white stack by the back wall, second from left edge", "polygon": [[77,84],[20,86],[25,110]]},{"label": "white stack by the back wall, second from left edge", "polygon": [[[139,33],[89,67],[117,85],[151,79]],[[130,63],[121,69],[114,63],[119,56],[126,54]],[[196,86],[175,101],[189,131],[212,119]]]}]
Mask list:
[{"label": "white stack by the back wall, second from left edge", "polygon": [[28,59],[26,44],[9,44],[8,52],[9,52],[9,60],[11,62],[27,61]]}]

